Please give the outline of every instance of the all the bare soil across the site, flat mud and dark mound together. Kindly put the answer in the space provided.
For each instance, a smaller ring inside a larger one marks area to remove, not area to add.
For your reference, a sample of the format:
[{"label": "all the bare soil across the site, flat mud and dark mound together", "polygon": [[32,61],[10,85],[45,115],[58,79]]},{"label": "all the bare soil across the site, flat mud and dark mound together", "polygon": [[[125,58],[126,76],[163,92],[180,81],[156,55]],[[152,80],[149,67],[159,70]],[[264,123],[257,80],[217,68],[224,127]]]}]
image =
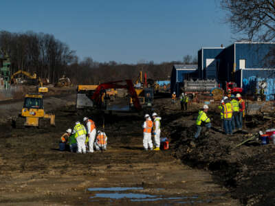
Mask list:
[{"label": "all the bare soil across the site, flat mud and dark mound together", "polygon": [[[169,98],[156,98],[153,110],[162,117],[161,136],[170,138],[170,149],[144,151],[143,115],[76,111],[75,95],[47,100],[45,109],[55,112],[56,127],[12,129],[8,120],[0,125],[0,205],[275,204],[274,145],[253,141],[232,150],[247,137],[243,133],[228,137],[217,129],[194,140],[199,104],[180,111],[178,102],[171,105]],[[17,107],[12,107],[11,115]],[[107,150],[59,151],[61,135],[85,116],[101,130],[104,119]],[[219,113],[214,106],[209,116],[217,128]],[[247,125],[251,133],[265,121],[254,122]],[[110,192],[95,187],[130,188],[122,193],[123,188]]]}]

